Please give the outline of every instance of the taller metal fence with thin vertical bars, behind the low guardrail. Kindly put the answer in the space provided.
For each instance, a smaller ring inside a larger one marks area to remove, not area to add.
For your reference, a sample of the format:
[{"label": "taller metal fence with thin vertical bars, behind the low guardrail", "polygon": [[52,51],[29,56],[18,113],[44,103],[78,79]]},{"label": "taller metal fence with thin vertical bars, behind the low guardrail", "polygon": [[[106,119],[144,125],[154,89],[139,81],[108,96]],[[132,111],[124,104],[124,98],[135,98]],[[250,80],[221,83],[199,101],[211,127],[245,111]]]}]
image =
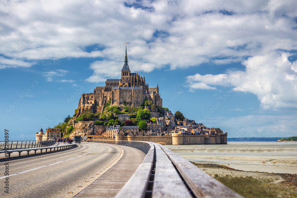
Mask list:
[{"label": "taller metal fence with thin vertical bars, behind the low guardrail", "polygon": [[56,143],[56,140],[45,141],[0,141],[0,151],[25,149],[25,148],[40,148],[47,147]]}]

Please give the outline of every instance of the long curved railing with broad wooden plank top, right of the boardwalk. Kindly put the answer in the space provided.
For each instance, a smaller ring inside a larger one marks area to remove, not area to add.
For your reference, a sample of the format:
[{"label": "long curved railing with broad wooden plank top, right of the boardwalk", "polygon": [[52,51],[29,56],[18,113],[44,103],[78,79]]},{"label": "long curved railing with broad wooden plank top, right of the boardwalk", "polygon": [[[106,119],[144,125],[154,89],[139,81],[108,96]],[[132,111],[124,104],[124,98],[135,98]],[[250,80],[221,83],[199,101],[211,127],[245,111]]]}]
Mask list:
[{"label": "long curved railing with broad wooden plank top, right of the boardwalk", "polygon": [[[86,140],[131,146],[146,156],[116,195],[121,197],[241,197],[170,149],[141,141]],[[147,150],[149,146],[149,150]],[[147,151],[147,152],[146,152]]]}]

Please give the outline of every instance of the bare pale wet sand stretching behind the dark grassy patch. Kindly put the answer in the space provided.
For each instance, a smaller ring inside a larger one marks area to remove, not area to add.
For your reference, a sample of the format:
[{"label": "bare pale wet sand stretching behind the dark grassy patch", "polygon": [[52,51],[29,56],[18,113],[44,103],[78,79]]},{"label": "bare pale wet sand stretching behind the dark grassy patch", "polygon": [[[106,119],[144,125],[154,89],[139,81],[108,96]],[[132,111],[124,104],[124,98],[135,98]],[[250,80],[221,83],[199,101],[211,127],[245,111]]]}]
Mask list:
[{"label": "bare pale wet sand stretching behind the dark grassy patch", "polygon": [[237,170],[297,173],[297,142],[228,142],[228,145],[165,145],[185,159]]}]

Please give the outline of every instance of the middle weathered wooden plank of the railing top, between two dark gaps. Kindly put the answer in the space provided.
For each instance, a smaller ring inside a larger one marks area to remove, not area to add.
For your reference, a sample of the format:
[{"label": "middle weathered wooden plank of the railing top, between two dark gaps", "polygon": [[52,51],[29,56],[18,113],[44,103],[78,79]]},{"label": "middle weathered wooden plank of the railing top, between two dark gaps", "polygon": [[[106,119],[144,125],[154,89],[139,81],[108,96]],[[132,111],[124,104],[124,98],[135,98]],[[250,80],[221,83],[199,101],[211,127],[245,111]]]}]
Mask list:
[{"label": "middle weathered wooden plank of the railing top, between two dark gaps", "polygon": [[192,198],[168,156],[158,144],[154,145],[156,147],[157,159],[152,197]]}]

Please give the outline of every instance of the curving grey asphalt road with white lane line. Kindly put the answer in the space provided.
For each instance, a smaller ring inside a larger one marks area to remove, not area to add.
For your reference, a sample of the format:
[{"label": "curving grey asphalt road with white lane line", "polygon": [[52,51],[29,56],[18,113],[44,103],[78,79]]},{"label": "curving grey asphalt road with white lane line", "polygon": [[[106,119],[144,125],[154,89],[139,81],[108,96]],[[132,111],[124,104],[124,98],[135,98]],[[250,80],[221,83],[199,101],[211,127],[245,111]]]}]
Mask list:
[{"label": "curving grey asphalt road with white lane line", "polygon": [[[0,197],[72,197],[102,175],[120,153],[112,145],[82,142],[68,151],[9,161],[10,174],[62,162],[9,177],[9,194],[4,192],[5,178],[0,179]],[[0,176],[4,172],[5,164],[1,162]]]}]

